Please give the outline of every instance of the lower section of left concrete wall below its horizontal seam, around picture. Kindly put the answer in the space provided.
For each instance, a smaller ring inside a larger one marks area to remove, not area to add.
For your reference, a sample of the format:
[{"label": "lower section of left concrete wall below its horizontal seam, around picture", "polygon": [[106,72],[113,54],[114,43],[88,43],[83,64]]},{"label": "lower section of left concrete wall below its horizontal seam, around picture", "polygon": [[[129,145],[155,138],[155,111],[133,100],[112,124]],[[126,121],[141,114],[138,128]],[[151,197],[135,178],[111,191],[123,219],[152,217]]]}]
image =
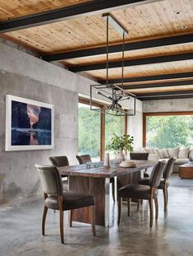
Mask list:
[{"label": "lower section of left concrete wall below its horizontal seam, around picture", "polygon": [[[50,164],[48,156],[67,155],[76,163],[78,151],[78,94],[10,72],[0,72],[0,201],[39,191],[34,164]],[[5,95],[54,105],[55,147],[44,151],[5,151]]]}]

